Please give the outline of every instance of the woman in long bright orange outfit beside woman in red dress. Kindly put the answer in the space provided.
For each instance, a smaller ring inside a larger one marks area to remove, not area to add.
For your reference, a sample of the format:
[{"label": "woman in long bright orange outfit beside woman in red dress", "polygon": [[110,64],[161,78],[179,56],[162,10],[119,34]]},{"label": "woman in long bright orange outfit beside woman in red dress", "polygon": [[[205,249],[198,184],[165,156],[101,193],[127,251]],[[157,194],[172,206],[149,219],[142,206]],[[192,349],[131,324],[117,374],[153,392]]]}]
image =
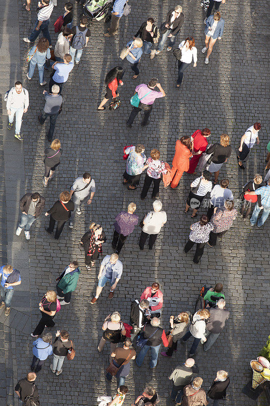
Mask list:
[{"label": "woman in long bright orange outfit beside woman in red dress", "polygon": [[176,141],[173,166],[171,170],[171,188],[176,188],[184,172],[188,171],[189,158],[191,154],[191,143],[189,137],[182,137]]}]

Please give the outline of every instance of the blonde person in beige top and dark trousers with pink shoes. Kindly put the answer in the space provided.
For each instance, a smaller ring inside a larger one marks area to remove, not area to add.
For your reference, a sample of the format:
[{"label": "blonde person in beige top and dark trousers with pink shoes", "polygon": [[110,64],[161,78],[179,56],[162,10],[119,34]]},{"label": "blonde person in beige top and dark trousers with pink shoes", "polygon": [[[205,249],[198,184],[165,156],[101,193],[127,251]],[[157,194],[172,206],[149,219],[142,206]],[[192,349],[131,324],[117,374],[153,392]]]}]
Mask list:
[{"label": "blonde person in beige top and dark trousers with pink shoes", "polygon": [[177,350],[177,341],[181,339],[189,326],[190,312],[182,312],[178,316],[170,317],[170,333],[172,334],[173,341],[171,347],[167,351],[162,351],[161,355],[164,357],[171,357],[173,352]]}]

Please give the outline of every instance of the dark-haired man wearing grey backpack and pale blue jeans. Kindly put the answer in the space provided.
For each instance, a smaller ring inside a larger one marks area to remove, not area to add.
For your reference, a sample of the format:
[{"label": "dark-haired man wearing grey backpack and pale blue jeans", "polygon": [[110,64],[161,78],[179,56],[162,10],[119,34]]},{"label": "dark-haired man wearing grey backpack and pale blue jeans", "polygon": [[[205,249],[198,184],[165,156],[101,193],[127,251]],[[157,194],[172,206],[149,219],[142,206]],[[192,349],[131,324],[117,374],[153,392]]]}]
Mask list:
[{"label": "dark-haired man wearing grey backpack and pale blue jeans", "polygon": [[88,23],[88,18],[86,16],[81,17],[80,25],[76,25],[71,28],[71,33],[73,37],[71,39],[69,53],[72,56],[72,63],[74,63],[75,53],[77,55],[75,62],[79,63],[83,49],[87,46],[89,37],[91,36],[90,29],[87,28],[86,24]]}]

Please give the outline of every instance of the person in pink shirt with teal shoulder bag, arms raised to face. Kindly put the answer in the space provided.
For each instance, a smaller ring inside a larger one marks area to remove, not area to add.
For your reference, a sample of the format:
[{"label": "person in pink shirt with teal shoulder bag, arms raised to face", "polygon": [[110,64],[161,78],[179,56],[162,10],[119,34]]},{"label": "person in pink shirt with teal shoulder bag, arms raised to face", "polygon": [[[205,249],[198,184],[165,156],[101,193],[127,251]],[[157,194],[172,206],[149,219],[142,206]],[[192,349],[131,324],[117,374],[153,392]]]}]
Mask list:
[{"label": "person in pink shirt with teal shoulder bag, arms raised to face", "polygon": [[[154,90],[157,87],[160,91]],[[144,127],[148,123],[148,119],[150,117],[153,104],[156,98],[166,96],[165,91],[161,87],[159,80],[157,78],[150,79],[148,85],[142,83],[135,87],[135,91],[138,93],[138,97],[140,99],[140,103],[138,107],[133,107],[132,112],[127,121],[127,127],[131,128],[132,123],[140,111],[144,111],[141,126]],[[143,103],[142,100],[143,99]]]}]

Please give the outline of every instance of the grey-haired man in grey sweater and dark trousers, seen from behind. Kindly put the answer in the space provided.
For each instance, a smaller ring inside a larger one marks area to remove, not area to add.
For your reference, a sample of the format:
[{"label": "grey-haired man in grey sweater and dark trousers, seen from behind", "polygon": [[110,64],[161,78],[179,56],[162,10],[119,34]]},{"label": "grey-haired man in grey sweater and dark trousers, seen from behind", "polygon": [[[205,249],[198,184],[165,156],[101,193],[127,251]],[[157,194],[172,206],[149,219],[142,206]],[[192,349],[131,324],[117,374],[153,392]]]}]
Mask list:
[{"label": "grey-haired man in grey sweater and dark trousers, seen from behind", "polygon": [[54,127],[56,123],[57,116],[59,114],[60,107],[63,103],[63,96],[59,94],[60,88],[58,85],[52,86],[52,93],[48,93],[46,90],[43,91],[45,95],[45,106],[43,112],[38,116],[38,121],[41,125],[45,123],[47,117],[50,117],[50,128],[47,134],[48,141],[52,141],[54,134]]}]

